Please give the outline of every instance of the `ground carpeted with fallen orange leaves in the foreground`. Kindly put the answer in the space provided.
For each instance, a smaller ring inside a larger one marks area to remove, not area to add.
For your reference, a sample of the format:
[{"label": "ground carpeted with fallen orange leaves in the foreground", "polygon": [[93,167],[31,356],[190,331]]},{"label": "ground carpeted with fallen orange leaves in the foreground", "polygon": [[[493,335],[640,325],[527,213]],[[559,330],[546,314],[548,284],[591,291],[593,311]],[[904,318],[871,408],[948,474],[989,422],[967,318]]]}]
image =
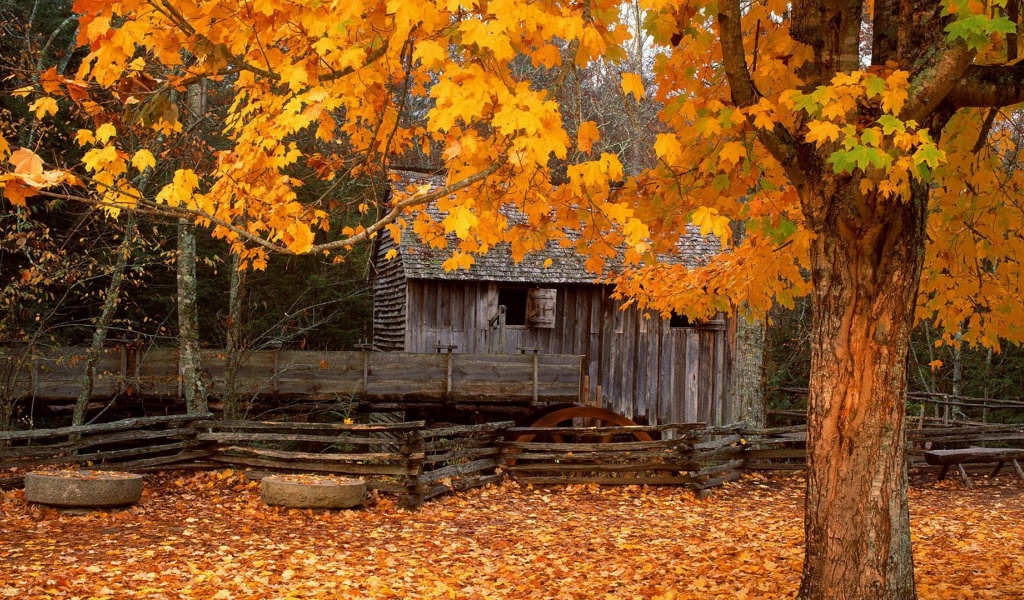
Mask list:
[{"label": "ground carpeted with fallen orange leaves in the foreground", "polygon": [[[1024,483],[915,478],[922,598],[1024,598]],[[673,488],[506,483],[427,504],[268,508],[229,471],[150,478],[130,510],[70,516],[0,492],[0,597],[787,598],[803,479]]]}]

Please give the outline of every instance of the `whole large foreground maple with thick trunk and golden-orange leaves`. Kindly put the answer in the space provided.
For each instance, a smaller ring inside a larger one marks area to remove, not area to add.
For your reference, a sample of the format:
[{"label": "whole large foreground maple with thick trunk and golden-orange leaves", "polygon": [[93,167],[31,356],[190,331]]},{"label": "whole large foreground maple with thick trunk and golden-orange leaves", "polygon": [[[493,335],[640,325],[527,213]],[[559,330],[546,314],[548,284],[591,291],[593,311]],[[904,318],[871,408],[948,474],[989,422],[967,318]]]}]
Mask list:
[{"label": "whole large foreground maple with thick trunk and golden-orange leaves", "polygon": [[[257,268],[269,251],[331,253],[389,227],[440,246],[455,233],[449,268],[497,244],[520,257],[550,240],[574,245],[595,271],[617,257],[626,267],[606,274],[663,312],[745,306],[757,316],[810,294],[801,597],[913,597],[911,326],[930,316],[950,343],[1024,337],[1020,173],[1002,168],[1017,145],[1006,108],[1024,93],[1019,6],[650,0],[638,27],[621,4],[79,0],[82,68],[20,93],[40,119],[65,95],[98,126],[80,133],[79,165],[0,140],[4,196],[186,217]],[[562,106],[513,67],[526,59],[558,80],[626,59],[640,35],[653,44],[653,79],[622,73],[618,83],[664,104],[664,130],[650,144],[656,163],[634,174],[600,145],[591,152],[599,123],[570,135]],[[203,80],[231,90],[227,147],[211,167],[181,166],[157,195],[140,194],[133,174],[163,157],[127,152],[125,120],[181,135],[172,97]],[[406,118],[424,105],[414,96],[427,99],[425,120]],[[297,146],[303,131],[318,152]],[[298,200],[294,165],[325,182],[383,177],[414,147],[444,165],[447,185],[360,203],[379,217],[372,225],[331,230],[327,209],[344,199]],[[426,202],[439,221],[406,212]],[[523,218],[510,220],[507,206]],[[662,263],[694,224],[726,252],[699,268]]]}]

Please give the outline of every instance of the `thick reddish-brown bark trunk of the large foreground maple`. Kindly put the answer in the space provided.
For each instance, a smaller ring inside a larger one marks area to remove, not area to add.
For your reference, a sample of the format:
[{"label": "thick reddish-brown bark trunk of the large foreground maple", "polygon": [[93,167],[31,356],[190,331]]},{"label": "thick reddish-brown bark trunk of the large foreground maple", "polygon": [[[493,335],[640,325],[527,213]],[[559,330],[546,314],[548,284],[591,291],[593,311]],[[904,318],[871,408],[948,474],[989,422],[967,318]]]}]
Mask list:
[{"label": "thick reddish-brown bark trunk of the large foreground maple", "polygon": [[825,174],[804,190],[818,237],[800,598],[914,598],[904,414],[928,190],[883,200],[855,185]]}]

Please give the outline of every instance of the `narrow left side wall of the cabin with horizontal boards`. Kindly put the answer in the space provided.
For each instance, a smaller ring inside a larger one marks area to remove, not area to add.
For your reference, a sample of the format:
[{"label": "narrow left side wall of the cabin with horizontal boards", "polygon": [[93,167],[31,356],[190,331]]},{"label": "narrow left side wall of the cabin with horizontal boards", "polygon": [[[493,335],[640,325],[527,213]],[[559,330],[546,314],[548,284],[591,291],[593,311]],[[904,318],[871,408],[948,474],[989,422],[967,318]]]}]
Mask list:
[{"label": "narrow left side wall of the cabin with horizontal boards", "polygon": [[398,252],[391,235],[382,235],[377,244],[371,268],[374,284],[374,350],[404,350],[406,271],[396,256],[387,260],[388,251]]}]

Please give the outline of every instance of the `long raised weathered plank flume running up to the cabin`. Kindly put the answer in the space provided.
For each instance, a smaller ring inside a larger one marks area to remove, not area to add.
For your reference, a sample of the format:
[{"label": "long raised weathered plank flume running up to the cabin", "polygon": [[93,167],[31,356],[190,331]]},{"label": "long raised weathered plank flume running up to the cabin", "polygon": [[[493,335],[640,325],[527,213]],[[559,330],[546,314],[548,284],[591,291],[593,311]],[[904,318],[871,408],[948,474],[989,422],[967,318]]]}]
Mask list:
[{"label": "long raised weathered plank flume running up to the cabin", "polygon": [[[74,400],[85,368],[86,348],[65,348],[25,365],[11,397]],[[0,366],[4,356],[0,355]],[[354,397],[489,403],[560,403],[580,396],[580,356],[438,354],[412,352],[315,352],[266,350],[246,354],[240,369],[242,395],[305,398]],[[222,350],[204,350],[210,394],[224,392]],[[108,350],[99,362],[92,399],[124,393],[178,397],[177,350]]]}]

